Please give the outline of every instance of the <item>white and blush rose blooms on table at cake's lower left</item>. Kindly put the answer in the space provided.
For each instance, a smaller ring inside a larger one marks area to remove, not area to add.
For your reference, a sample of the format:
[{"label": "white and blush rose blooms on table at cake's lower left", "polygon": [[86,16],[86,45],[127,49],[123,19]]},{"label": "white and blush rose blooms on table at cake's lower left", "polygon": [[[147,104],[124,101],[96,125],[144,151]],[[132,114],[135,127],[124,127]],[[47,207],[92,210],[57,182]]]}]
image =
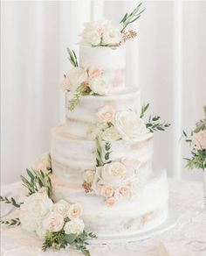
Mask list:
[{"label": "white and blush rose blooms on table at cake's lower left", "polygon": [[20,207],[20,221],[26,231],[36,231],[38,237],[45,238],[47,231],[57,232],[64,229],[66,234],[84,231],[85,224],[79,218],[81,207],[78,203],[70,204],[64,200],[52,203],[44,192],[37,192],[26,197]]}]

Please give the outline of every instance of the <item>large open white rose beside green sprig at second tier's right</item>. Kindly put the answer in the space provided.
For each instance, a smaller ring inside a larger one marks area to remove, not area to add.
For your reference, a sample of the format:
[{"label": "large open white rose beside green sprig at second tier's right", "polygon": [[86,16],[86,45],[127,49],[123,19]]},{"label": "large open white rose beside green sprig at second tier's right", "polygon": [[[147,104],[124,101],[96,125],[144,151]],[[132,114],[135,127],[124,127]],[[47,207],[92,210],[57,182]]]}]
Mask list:
[{"label": "large open white rose beside green sprig at second tier's right", "polygon": [[141,133],[147,131],[143,120],[132,110],[116,112],[113,124],[125,140],[137,139]]}]

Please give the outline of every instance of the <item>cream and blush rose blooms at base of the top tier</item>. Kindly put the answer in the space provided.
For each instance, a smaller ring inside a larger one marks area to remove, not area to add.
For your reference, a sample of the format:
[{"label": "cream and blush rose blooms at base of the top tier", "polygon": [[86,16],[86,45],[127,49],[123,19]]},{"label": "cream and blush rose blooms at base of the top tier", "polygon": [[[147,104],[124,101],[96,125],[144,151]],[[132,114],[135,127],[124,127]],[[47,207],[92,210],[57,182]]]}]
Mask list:
[{"label": "cream and blush rose blooms at base of the top tier", "polygon": [[75,92],[80,85],[100,96],[108,95],[113,89],[112,82],[106,79],[100,68],[94,66],[89,68],[72,68],[65,75],[61,88]]}]

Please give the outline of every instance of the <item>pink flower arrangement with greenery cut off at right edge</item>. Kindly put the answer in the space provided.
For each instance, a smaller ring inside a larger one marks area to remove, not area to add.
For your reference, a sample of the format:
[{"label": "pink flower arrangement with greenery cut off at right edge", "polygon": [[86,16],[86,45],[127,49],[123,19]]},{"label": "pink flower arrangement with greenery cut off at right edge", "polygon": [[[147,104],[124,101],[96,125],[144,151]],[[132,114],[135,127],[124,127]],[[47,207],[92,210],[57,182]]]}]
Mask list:
[{"label": "pink flower arrangement with greenery cut off at right edge", "polygon": [[203,170],[203,205],[206,208],[206,106],[203,107],[204,117],[196,123],[196,128],[190,136],[183,131],[185,141],[191,148],[191,157],[185,158],[189,169]]}]

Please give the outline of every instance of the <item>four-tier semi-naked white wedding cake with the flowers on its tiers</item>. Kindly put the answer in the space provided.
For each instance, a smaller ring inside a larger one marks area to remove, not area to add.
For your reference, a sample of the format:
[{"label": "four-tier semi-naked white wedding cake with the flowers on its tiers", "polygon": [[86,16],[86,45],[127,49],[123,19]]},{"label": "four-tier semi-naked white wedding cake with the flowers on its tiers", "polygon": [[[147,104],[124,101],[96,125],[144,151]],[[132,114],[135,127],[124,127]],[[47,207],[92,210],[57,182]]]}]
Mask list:
[{"label": "four-tier semi-naked white wedding cake with the flowers on its tiers", "polygon": [[52,128],[55,200],[79,203],[86,229],[99,238],[153,229],[168,216],[166,171],[153,165],[154,131],[168,124],[144,120],[140,89],[126,84],[126,44],[136,32],[106,20],[85,24],[79,60],[68,50],[65,124]]}]

